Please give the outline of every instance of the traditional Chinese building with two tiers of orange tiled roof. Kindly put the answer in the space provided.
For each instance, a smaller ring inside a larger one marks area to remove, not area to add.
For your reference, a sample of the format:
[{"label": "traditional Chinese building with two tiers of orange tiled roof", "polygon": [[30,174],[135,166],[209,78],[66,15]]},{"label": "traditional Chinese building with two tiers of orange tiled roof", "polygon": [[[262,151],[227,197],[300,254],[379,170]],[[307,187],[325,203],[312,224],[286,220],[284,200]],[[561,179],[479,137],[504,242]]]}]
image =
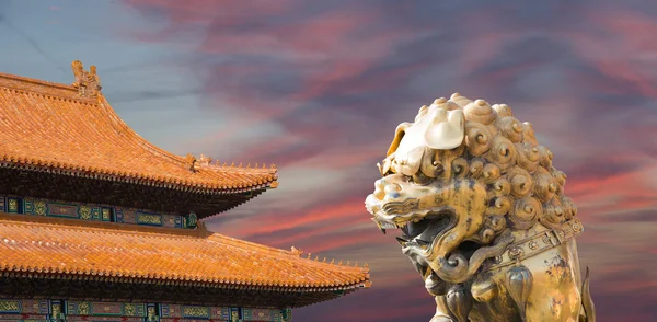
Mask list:
[{"label": "traditional Chinese building with two tiers of orange tiled roof", "polygon": [[263,164],[166,152],[72,85],[0,73],[0,321],[289,321],[369,287],[324,263],[208,231],[278,185]]}]

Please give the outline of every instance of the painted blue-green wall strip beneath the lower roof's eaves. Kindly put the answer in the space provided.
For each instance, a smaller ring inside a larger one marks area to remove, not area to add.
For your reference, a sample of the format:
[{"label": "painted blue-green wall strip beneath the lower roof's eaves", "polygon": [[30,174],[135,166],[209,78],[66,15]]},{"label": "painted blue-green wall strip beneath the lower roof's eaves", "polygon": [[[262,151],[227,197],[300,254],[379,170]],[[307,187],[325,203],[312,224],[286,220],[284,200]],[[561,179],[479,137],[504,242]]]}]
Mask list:
[{"label": "painted blue-green wall strip beneath the lower roof's eaves", "polygon": [[260,321],[286,322],[291,310],[203,307],[171,303],[93,302],[53,299],[2,299],[0,321]]}]

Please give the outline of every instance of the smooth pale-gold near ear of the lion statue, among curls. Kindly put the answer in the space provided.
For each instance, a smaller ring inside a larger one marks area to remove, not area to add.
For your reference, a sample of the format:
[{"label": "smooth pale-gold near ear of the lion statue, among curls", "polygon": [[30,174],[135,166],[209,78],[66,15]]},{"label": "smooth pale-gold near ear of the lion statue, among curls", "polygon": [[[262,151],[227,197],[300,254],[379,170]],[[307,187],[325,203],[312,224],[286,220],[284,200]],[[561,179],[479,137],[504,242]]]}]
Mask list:
[{"label": "smooth pale-gold near ear of the lion statue, among curls", "polygon": [[424,138],[427,146],[436,150],[459,147],[465,137],[465,118],[462,110],[436,108],[429,115],[429,126]]}]

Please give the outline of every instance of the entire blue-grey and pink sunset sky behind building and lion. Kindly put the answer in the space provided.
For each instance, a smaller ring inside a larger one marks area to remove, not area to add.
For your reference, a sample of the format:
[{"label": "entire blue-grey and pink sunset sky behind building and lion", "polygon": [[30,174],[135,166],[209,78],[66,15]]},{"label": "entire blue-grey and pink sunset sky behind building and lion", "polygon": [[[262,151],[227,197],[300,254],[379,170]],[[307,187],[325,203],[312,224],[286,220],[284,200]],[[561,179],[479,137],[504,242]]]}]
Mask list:
[{"label": "entire blue-grey and pink sunset sky behind building and lion", "polygon": [[599,320],[655,321],[656,37],[654,1],[0,0],[0,72],[71,83],[72,60],[96,65],[151,142],[278,166],[211,230],[369,264],[370,289],[295,321],[430,319],[364,200],[396,125],[452,92],[509,104],[568,174]]}]

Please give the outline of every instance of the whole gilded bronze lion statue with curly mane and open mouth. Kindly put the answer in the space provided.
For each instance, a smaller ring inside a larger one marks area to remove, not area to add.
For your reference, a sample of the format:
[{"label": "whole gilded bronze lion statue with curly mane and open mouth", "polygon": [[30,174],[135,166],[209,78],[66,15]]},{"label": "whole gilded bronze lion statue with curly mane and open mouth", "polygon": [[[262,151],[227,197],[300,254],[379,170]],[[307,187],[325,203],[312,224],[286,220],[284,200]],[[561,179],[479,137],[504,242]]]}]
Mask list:
[{"label": "whole gilded bronze lion statue with curly mane and open mouth", "polygon": [[531,124],[454,93],[402,123],[366,199],[435,297],[436,321],[595,321],[583,226]]}]

